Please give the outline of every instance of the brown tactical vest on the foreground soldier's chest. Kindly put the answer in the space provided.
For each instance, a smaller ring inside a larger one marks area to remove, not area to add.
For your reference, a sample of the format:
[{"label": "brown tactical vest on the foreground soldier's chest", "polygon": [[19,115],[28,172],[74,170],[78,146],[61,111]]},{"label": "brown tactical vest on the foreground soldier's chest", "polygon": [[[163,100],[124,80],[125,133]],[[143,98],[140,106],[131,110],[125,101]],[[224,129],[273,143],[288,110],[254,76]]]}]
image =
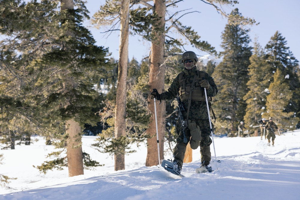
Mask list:
[{"label": "brown tactical vest on the foreground soldier's chest", "polygon": [[[190,78],[189,82],[187,81],[187,77],[185,77],[184,72],[179,74],[179,83],[181,88],[179,90],[179,98],[181,100],[188,100],[191,94],[191,100],[194,101],[206,101],[204,89],[201,88],[199,81],[205,79],[204,71],[196,71],[194,78]],[[192,89],[191,89],[192,87]]]}]

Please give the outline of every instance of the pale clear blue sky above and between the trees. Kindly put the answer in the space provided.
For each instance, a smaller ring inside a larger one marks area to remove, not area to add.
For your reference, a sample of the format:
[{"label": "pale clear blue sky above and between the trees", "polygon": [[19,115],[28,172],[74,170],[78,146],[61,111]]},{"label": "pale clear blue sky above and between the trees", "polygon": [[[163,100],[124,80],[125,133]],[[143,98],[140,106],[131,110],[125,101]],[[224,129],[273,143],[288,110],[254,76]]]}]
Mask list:
[{"label": "pale clear blue sky above and between the trees", "polygon": [[[152,1],[151,1],[152,2]],[[104,4],[105,0],[87,0],[86,7],[92,16]],[[270,38],[279,31],[286,38],[287,45],[296,59],[300,60],[300,15],[298,9],[300,1],[298,0],[240,0],[236,4],[239,12],[246,17],[250,17],[259,22],[259,25],[250,26],[250,38],[252,42],[258,37],[258,42],[262,47],[268,43]],[[234,8],[235,8],[234,7]],[[184,25],[192,26],[201,36],[201,40],[208,41],[217,51],[222,51],[220,44],[221,34],[225,28],[227,20],[210,5],[200,0],[185,0],[179,4],[177,10],[192,8],[200,13],[186,15],[181,19]],[[230,8],[225,7],[228,13]],[[101,34],[104,29],[98,30],[90,28],[97,45],[109,47],[112,53],[111,57],[119,58],[119,31],[112,34]],[[253,43],[250,43],[253,46]],[[141,61],[142,58],[149,55],[151,43],[143,41],[141,37],[129,37],[129,59],[136,58]],[[191,46],[186,46],[186,50],[195,51],[197,55],[206,55]],[[184,52],[184,49],[182,50]]]}]

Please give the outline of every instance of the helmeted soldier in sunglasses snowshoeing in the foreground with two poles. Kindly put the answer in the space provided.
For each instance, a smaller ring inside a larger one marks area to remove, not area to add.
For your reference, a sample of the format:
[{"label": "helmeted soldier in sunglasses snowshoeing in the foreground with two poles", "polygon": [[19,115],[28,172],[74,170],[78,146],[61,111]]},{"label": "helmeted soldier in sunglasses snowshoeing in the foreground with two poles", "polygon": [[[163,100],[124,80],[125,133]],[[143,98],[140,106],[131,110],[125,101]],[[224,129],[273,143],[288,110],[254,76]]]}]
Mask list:
[{"label": "helmeted soldier in sunglasses snowshoeing in the foreground with two poles", "polygon": [[[196,69],[198,58],[192,51],[182,54],[182,64],[184,70],[177,75],[168,91],[158,94],[160,100],[172,100],[179,95],[183,104],[183,116],[187,120],[188,129],[183,131],[181,122],[176,123],[176,146],[173,149],[173,164],[177,172],[181,172],[184,154],[187,143],[190,142],[192,149],[200,146],[201,167],[205,167],[208,172],[212,172],[210,145],[212,143],[209,116],[206,106],[204,88],[208,97],[216,96],[218,89],[214,80],[208,73]],[[157,93],[152,92],[151,98],[156,98]],[[214,130],[214,125],[212,128]],[[187,142],[184,142],[184,132]]]}]

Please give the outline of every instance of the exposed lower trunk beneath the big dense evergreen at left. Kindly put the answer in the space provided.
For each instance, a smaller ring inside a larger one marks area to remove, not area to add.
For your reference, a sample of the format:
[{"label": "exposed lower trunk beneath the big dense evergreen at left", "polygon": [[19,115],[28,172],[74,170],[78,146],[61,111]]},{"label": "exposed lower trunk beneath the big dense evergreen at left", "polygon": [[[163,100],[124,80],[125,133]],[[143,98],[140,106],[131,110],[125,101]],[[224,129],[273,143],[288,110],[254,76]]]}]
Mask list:
[{"label": "exposed lower trunk beneath the big dense evergreen at left", "polygon": [[68,120],[66,123],[67,139],[67,160],[69,177],[83,174],[83,157],[81,148],[81,128],[74,120]]}]

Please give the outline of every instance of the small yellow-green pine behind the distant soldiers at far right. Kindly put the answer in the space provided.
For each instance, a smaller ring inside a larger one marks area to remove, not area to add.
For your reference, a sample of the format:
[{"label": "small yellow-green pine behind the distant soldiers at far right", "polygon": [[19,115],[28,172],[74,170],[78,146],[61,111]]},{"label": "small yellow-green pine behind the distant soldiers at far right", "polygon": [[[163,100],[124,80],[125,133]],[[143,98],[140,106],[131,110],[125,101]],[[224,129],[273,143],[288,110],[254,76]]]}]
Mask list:
[{"label": "small yellow-green pine behind the distant soldiers at far right", "polygon": [[294,112],[286,112],[285,110],[286,104],[293,94],[284,79],[285,77],[280,70],[274,73],[274,82],[270,84],[270,94],[267,96],[267,112],[263,114],[263,117],[273,117],[278,128],[289,130],[295,128],[299,118],[295,116]]}]

